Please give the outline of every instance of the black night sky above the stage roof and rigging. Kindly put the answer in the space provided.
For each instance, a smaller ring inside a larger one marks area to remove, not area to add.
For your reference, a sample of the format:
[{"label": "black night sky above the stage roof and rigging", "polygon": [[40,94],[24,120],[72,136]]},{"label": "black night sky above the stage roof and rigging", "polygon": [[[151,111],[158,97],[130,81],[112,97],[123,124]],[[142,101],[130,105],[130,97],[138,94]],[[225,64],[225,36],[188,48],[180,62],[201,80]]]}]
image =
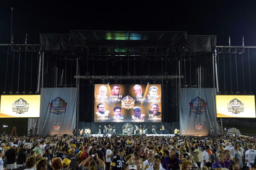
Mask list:
[{"label": "black night sky above the stage roof and rigging", "polygon": [[15,43],[39,43],[39,33],[69,30],[187,31],[218,35],[217,45],[255,45],[256,1],[3,1],[0,43],[9,43],[11,8]]}]

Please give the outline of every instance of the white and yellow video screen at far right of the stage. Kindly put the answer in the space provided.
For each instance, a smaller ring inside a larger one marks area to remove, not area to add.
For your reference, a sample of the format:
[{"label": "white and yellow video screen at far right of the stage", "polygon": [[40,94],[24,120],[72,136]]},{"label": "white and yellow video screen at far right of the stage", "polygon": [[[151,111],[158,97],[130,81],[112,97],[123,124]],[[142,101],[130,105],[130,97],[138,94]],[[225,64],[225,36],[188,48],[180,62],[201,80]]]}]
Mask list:
[{"label": "white and yellow video screen at far right of the stage", "polygon": [[217,95],[218,118],[255,118],[254,96]]}]

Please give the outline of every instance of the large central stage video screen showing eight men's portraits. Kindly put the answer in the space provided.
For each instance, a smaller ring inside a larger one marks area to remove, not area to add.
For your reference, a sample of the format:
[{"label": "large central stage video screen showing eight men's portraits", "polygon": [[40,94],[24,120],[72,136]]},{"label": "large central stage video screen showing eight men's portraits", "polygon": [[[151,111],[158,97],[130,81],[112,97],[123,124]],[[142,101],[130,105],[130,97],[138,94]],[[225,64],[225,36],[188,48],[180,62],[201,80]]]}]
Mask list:
[{"label": "large central stage video screen showing eight men's portraits", "polygon": [[95,84],[94,122],[162,122],[161,84]]}]

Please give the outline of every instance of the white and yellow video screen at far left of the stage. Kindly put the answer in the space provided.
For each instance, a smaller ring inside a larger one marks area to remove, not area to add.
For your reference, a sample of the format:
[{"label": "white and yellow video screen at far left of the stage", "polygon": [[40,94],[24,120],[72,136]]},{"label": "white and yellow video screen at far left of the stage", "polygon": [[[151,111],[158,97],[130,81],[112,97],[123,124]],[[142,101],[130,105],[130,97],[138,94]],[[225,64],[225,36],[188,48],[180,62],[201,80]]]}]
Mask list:
[{"label": "white and yellow video screen at far left of the stage", "polygon": [[0,118],[32,118],[40,115],[40,95],[2,95]]}]

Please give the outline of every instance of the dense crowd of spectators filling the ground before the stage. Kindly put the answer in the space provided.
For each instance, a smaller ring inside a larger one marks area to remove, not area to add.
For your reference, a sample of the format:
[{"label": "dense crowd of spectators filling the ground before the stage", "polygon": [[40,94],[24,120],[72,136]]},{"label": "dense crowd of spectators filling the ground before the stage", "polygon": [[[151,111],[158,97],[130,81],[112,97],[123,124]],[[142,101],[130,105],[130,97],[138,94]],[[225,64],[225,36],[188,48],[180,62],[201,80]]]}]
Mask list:
[{"label": "dense crowd of spectators filling the ground before the stage", "polygon": [[115,135],[0,138],[0,170],[256,169],[254,137]]}]

